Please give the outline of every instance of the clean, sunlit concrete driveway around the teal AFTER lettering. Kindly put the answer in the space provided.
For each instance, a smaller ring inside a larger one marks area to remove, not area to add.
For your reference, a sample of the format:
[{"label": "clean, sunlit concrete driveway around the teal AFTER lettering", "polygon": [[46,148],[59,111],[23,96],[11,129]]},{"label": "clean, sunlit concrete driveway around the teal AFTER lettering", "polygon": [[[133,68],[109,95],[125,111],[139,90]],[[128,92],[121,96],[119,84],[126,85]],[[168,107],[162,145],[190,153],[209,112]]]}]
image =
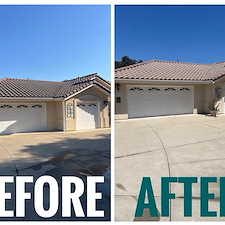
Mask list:
[{"label": "clean, sunlit concrete driveway around the teal AFTER lettering", "polygon": [[151,177],[158,211],[161,177],[224,177],[225,116],[171,116],[115,123],[115,219],[117,221],[223,220],[219,217],[219,181],[209,185],[215,200],[209,210],[218,217],[200,217],[200,185],[193,184],[193,215],[183,216],[183,185],[173,183],[169,217],[134,218],[142,177]]}]

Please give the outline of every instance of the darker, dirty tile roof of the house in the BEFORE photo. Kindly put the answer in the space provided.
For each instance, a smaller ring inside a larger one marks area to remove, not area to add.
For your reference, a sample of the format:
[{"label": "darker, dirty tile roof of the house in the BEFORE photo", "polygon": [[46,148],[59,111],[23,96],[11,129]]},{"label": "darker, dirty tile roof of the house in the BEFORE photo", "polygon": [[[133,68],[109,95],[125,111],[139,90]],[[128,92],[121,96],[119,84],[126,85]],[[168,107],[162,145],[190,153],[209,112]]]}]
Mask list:
[{"label": "darker, dirty tile roof of the house in the BEFORE photo", "polygon": [[65,98],[92,84],[110,92],[110,84],[96,73],[61,82],[2,78],[0,98]]}]

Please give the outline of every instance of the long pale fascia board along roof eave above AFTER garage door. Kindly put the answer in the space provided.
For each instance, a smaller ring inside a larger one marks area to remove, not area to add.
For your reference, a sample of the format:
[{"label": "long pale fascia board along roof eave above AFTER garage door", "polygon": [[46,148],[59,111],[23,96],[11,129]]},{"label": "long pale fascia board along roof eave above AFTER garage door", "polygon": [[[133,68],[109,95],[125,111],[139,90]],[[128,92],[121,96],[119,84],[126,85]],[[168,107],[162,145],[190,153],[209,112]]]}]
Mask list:
[{"label": "long pale fascia board along roof eave above AFTER garage door", "polygon": [[115,79],[119,83],[187,83],[187,84],[211,84],[211,80],[207,81],[192,81],[192,80],[148,80],[148,79]]}]

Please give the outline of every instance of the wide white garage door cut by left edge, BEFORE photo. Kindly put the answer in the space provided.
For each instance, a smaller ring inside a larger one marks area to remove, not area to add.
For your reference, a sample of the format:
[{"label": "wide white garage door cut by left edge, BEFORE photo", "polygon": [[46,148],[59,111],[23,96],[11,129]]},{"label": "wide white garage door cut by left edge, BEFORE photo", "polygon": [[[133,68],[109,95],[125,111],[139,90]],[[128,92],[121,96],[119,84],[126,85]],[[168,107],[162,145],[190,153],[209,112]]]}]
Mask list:
[{"label": "wide white garage door cut by left edge, BEFORE photo", "polygon": [[45,129],[45,104],[0,104],[0,134]]}]

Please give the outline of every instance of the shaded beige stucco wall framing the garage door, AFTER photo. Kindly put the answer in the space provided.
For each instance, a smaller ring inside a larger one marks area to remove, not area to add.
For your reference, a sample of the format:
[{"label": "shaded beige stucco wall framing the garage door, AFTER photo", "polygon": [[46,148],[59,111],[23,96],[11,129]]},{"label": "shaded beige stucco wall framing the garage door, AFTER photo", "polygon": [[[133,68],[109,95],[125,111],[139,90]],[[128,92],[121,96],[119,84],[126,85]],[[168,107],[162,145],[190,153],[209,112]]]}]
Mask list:
[{"label": "shaded beige stucco wall framing the garage door, AFTER photo", "polygon": [[[127,85],[168,85],[168,83],[161,83],[161,84],[152,84],[152,83],[120,83],[119,91],[115,93],[116,97],[121,97],[121,103],[115,103],[115,119],[127,119],[128,112],[127,112],[127,93],[126,87]],[[194,109],[193,113],[204,113],[204,85],[193,85],[193,84],[175,84],[170,83],[169,86],[192,86],[194,87]]]}]

